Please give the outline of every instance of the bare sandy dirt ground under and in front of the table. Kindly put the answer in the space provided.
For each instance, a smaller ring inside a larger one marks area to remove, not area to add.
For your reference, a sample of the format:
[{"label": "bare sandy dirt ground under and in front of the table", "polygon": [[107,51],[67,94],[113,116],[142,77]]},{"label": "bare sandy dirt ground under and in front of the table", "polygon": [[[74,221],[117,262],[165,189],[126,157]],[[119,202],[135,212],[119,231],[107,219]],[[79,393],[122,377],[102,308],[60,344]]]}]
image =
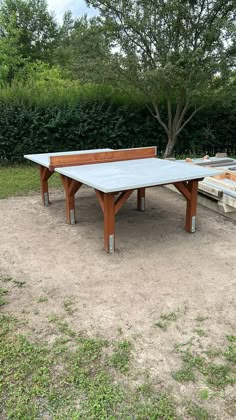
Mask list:
[{"label": "bare sandy dirt ground under and in front of the table", "polygon": [[[91,335],[113,339],[122,331],[134,341],[135,365],[156,386],[197,401],[203,384],[171,376],[182,364],[174,346],[194,337],[196,348],[223,348],[226,335],[235,334],[235,223],[199,205],[197,231],[188,234],[184,199],[152,188],[145,212],[136,210],[134,195],[116,216],[116,253],[109,255],[93,190],[79,192],[74,226],[66,224],[63,192],[52,191],[50,199],[49,208],[39,194],[0,201],[1,275],[25,282],[12,283],[4,311],[48,340],[52,314]],[[174,322],[159,328],[161,316],[170,313]],[[204,337],[195,333],[199,328]],[[227,410],[233,392],[229,387],[225,399],[206,403],[215,418],[235,418]]]}]

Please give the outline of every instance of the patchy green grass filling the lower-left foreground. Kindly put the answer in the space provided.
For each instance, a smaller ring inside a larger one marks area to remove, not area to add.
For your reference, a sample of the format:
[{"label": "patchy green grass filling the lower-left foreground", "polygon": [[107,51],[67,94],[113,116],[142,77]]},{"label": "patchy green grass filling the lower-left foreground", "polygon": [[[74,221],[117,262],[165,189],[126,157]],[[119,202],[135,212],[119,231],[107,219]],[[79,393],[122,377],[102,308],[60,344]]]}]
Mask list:
[{"label": "patchy green grass filling the lower-left foreground", "polygon": [[[60,327],[58,319],[51,321]],[[32,341],[21,323],[0,316],[0,417],[8,419],[176,419],[175,403],[149,384],[127,385],[120,366],[130,345],[120,342],[121,363],[110,366],[114,344],[102,338],[60,332],[53,343]],[[68,328],[67,328],[68,330]]]}]

